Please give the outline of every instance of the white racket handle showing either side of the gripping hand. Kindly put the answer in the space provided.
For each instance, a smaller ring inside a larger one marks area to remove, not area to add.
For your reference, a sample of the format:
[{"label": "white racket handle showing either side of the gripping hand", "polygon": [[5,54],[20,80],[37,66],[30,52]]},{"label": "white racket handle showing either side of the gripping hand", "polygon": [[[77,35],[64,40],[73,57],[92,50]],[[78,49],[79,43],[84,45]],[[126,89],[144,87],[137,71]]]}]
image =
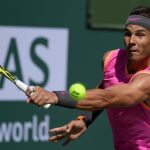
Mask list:
[{"label": "white racket handle showing either side of the gripping hand", "polygon": [[[20,90],[22,90],[23,92],[26,92],[26,90],[27,90],[27,88],[28,88],[28,85],[26,85],[25,83],[23,83],[23,82],[20,81],[20,80],[16,80],[16,81],[15,81],[15,85],[16,85]],[[43,106],[43,108],[48,109],[50,106],[51,106],[51,104],[45,104],[45,105]]]}]

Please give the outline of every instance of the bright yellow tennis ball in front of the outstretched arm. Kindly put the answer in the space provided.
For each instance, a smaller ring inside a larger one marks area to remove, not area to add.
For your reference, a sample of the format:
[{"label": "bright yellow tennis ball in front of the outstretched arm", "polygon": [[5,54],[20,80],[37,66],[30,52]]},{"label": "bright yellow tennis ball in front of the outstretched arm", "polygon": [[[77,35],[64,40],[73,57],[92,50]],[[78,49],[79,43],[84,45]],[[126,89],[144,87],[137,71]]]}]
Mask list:
[{"label": "bright yellow tennis ball in front of the outstretched arm", "polygon": [[69,94],[75,100],[84,99],[86,96],[86,88],[81,83],[72,84],[69,88]]}]

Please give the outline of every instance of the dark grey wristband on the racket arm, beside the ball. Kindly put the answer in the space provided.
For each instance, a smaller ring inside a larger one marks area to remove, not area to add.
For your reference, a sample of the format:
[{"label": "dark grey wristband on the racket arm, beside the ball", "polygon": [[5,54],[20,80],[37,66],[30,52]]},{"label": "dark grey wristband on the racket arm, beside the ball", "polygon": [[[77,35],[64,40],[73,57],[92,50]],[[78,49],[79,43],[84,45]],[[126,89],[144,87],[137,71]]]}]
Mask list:
[{"label": "dark grey wristband on the racket arm, beside the ball", "polygon": [[58,102],[56,105],[64,106],[67,108],[75,108],[77,101],[72,99],[67,91],[53,91],[58,97]]}]

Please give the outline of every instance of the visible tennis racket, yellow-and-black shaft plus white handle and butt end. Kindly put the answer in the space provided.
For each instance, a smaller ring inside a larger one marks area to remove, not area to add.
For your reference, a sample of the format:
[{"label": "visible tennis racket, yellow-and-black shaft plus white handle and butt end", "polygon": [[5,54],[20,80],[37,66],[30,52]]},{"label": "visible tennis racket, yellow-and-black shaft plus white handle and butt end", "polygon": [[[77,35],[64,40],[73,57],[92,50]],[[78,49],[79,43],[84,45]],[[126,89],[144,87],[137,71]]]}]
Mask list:
[{"label": "visible tennis racket, yellow-and-black shaft plus white handle and butt end", "polygon": [[[23,83],[22,81],[16,79],[15,77],[13,77],[10,72],[8,72],[4,67],[2,67],[0,65],[0,74],[4,77],[6,77],[7,79],[9,79],[11,82],[13,82],[20,90],[22,90],[23,92],[26,92],[27,88],[29,87],[28,85],[26,85],[25,83]],[[43,107],[44,108],[49,108],[51,106],[51,104],[46,104]]]}]

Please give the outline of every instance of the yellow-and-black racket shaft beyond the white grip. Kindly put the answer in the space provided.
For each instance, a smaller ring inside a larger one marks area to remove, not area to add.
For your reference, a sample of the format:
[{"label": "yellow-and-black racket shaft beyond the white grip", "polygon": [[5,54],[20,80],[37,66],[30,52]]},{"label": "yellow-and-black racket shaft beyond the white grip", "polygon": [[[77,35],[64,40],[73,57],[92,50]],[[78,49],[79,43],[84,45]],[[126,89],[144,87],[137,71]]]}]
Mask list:
[{"label": "yellow-and-black racket shaft beyond the white grip", "polygon": [[2,67],[1,65],[0,65],[0,74],[1,74],[3,77],[5,77],[5,78],[9,79],[10,81],[12,81],[13,83],[15,83],[15,78],[11,75],[10,72],[8,72],[8,71],[7,71],[4,67]]}]

